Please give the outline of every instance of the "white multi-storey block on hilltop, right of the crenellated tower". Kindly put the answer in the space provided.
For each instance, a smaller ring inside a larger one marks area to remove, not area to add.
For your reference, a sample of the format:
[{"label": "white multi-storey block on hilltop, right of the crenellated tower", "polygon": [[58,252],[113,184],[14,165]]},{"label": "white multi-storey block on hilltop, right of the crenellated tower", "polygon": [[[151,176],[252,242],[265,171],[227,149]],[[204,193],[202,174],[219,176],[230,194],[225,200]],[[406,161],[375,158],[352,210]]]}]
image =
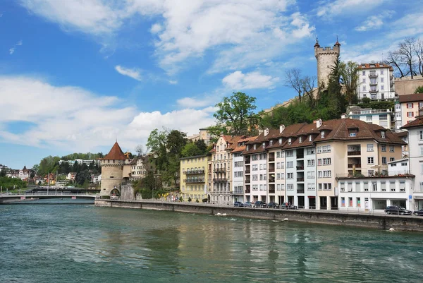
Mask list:
[{"label": "white multi-storey block on hilltop, right of the crenellated tower", "polygon": [[357,96],[359,100],[394,100],[395,88],[393,68],[382,63],[360,64],[358,66]]}]

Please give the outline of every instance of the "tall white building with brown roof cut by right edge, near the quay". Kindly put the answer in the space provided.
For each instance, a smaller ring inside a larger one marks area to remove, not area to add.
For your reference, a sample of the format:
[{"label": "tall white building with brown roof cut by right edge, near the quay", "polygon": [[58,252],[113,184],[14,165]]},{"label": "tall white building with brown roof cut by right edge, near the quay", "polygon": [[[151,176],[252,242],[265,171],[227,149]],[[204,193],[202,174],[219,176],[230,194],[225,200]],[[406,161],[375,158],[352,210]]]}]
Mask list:
[{"label": "tall white building with brown roof cut by right edge, near the quay", "polygon": [[410,162],[410,174],[415,175],[414,209],[423,208],[423,116],[417,116],[414,121],[402,128],[408,131],[408,150]]}]

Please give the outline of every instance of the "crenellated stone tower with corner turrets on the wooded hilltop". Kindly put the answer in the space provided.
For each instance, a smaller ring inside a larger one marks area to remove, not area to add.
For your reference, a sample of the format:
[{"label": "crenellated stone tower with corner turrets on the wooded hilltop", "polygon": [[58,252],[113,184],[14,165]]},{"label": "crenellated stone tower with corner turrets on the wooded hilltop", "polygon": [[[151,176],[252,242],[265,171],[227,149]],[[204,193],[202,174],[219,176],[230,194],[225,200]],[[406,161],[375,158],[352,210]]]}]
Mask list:
[{"label": "crenellated stone tower with corner turrets on the wooded hilltop", "polygon": [[338,38],[333,47],[320,47],[319,41],[316,39],[316,44],[314,44],[314,56],[317,59],[317,82],[319,86],[323,84],[324,88],[327,88],[331,66],[335,63],[340,52],[341,44],[338,42]]}]

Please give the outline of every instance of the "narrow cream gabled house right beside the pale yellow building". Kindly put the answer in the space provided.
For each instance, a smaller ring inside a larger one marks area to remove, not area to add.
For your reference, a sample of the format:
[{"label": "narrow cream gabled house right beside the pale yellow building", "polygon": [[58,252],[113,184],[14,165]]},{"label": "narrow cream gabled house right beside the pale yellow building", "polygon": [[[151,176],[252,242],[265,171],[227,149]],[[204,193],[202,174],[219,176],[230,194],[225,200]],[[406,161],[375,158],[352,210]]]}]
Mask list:
[{"label": "narrow cream gabled house right beside the pale yellow building", "polygon": [[228,150],[238,143],[240,136],[221,135],[210,150],[211,158],[208,162],[209,190],[212,203],[231,204],[231,169],[232,156]]}]

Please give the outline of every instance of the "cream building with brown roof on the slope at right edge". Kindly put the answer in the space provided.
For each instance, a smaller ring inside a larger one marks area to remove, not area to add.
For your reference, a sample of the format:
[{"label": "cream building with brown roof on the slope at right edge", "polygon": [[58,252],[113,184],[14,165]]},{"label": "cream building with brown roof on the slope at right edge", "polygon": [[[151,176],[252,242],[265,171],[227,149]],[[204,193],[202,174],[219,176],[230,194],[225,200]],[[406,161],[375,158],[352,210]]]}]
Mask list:
[{"label": "cream building with brown roof on the slope at right edge", "polygon": [[398,102],[400,104],[400,111],[398,112],[401,113],[401,126],[414,121],[417,116],[423,115],[423,93],[399,95]]}]

